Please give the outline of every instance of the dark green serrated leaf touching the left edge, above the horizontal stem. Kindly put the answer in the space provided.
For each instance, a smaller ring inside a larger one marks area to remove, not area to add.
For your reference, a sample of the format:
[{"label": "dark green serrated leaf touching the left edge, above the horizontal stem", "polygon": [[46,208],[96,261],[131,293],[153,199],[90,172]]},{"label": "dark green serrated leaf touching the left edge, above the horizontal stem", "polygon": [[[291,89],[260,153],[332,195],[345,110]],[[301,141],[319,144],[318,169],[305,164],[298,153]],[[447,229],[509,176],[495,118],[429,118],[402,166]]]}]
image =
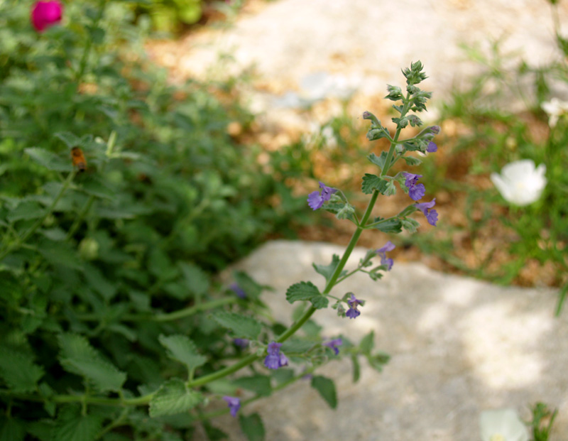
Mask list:
[{"label": "dark green serrated leaf touching the left edge, above the horizontal stem", "polygon": [[31,356],[8,347],[0,347],[0,376],[11,390],[18,393],[35,391],[43,369]]}]

